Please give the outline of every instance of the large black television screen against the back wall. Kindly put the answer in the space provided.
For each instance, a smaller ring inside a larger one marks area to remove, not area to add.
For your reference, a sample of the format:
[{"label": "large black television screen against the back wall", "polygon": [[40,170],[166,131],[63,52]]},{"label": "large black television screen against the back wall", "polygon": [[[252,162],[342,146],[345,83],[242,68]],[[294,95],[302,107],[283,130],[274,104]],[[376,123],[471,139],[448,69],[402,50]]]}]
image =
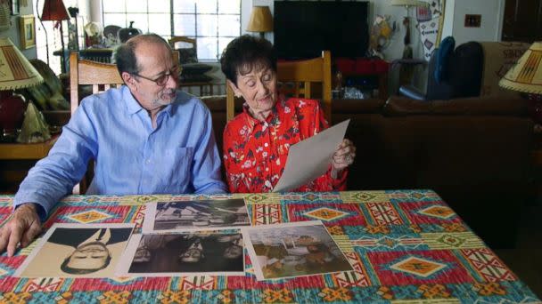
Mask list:
[{"label": "large black television screen against the back wall", "polygon": [[275,50],[280,59],[306,59],[329,50],[333,58],[363,57],[367,2],[275,1]]}]

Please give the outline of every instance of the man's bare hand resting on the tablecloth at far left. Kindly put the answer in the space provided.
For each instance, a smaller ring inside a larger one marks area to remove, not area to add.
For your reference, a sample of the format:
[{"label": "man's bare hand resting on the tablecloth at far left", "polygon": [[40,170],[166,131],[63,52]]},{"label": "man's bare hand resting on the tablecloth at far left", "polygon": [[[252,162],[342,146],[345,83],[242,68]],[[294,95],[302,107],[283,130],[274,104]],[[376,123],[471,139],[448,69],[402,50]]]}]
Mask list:
[{"label": "man's bare hand resting on the tablecloth at far left", "polygon": [[7,256],[12,257],[19,243],[21,247],[28,246],[40,231],[41,221],[37,215],[37,205],[21,204],[0,230],[0,252],[7,248]]}]

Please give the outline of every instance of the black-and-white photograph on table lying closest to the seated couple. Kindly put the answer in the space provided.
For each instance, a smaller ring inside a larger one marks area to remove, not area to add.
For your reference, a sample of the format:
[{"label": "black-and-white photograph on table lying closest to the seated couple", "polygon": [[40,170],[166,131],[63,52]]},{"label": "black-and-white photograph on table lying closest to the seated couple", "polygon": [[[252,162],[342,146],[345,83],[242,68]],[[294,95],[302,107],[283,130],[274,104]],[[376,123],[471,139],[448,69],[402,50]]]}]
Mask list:
[{"label": "black-and-white photograph on table lying closest to the seated couple", "polygon": [[143,232],[217,230],[250,226],[242,198],[158,202],[146,205]]}]

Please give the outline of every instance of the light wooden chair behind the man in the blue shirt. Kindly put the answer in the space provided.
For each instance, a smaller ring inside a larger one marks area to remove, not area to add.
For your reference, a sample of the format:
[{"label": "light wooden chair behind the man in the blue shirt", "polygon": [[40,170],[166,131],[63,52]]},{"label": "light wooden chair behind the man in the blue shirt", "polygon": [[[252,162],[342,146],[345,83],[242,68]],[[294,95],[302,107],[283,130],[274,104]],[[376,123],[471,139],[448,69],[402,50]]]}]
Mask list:
[{"label": "light wooden chair behind the man in the blue shirt", "polygon": [[[173,52],[173,60],[178,60],[179,53]],[[92,60],[79,60],[78,53],[70,53],[70,112],[71,115],[78,108],[81,98],[79,97],[80,85],[91,85],[92,93],[104,92],[111,87],[119,87],[124,84],[119,75],[117,65],[111,63],[96,62]],[[94,162],[88,164],[85,177],[74,187],[74,194],[84,194],[94,177]]]}]

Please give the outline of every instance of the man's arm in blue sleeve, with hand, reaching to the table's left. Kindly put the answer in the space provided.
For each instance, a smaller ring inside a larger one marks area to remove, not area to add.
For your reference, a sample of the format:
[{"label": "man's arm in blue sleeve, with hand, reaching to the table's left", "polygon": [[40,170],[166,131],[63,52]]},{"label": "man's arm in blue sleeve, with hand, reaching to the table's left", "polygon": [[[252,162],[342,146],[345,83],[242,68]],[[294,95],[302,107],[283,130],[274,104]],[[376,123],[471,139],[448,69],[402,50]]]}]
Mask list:
[{"label": "man's arm in blue sleeve, with hand, reaching to the table's left", "polygon": [[86,110],[79,107],[49,155],[37,162],[21,182],[13,200],[12,219],[0,231],[0,252],[12,256],[17,245],[25,247],[41,231],[47,212],[81,180],[95,153],[94,129]]}]

